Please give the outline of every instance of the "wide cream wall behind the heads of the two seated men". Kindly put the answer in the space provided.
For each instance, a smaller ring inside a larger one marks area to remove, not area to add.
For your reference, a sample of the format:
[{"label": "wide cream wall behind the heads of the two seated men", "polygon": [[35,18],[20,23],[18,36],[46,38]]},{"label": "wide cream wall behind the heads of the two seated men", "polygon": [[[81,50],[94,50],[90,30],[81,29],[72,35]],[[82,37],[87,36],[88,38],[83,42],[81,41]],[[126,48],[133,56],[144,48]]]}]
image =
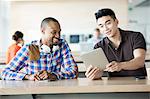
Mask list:
[{"label": "wide cream wall behind the heads of the two seated men", "polygon": [[10,33],[21,30],[26,41],[39,38],[40,23],[48,16],[59,20],[62,34],[92,33],[96,27],[94,13],[103,7],[112,8],[120,25],[127,25],[127,0],[12,1]]}]

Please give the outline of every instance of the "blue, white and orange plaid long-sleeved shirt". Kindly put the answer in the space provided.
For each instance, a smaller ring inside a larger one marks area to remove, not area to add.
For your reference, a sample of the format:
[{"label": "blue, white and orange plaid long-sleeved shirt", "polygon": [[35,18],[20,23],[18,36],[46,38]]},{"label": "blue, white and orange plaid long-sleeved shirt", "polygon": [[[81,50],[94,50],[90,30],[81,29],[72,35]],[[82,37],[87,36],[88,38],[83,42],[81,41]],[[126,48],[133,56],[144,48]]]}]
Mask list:
[{"label": "blue, white and orange plaid long-sleeved shirt", "polygon": [[[77,78],[78,67],[71,50],[65,40],[61,39],[61,41],[61,46],[53,53],[40,52],[40,59],[37,61],[29,60],[30,44],[26,44],[2,71],[2,79],[22,80],[26,74],[35,74],[42,70],[54,73],[58,79]],[[39,41],[34,41],[31,44],[33,43],[40,45]]]}]

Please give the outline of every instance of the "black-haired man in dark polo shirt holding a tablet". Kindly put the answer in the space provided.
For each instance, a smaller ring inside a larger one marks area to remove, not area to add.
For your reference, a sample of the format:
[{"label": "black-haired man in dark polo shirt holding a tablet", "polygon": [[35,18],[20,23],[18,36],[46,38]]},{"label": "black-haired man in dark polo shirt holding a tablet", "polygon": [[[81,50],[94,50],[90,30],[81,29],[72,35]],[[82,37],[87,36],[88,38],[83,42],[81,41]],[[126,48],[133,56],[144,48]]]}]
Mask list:
[{"label": "black-haired man in dark polo shirt holding a tablet", "polygon": [[86,77],[99,79],[103,71],[107,71],[110,77],[145,77],[146,42],[143,35],[118,28],[119,21],[114,11],[109,8],[98,10],[95,17],[100,32],[106,37],[94,48],[102,48],[110,63],[105,70],[89,66]]}]

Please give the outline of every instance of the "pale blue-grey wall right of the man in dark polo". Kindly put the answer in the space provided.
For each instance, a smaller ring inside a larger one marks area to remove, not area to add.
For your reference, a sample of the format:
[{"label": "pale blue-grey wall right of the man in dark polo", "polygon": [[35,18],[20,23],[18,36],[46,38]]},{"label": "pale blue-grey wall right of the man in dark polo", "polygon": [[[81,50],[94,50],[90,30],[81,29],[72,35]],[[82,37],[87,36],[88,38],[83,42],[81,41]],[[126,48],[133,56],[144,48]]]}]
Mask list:
[{"label": "pale blue-grey wall right of the man in dark polo", "polygon": [[129,11],[128,29],[140,31],[147,42],[147,47],[150,48],[150,7],[133,7]]}]

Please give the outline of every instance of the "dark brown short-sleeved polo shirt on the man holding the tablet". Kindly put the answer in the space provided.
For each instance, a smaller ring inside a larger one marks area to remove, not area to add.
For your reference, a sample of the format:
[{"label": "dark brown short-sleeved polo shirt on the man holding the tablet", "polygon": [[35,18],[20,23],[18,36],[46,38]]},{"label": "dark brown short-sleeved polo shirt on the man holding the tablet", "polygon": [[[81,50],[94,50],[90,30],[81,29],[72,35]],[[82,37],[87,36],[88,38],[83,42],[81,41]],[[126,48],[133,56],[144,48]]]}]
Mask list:
[{"label": "dark brown short-sleeved polo shirt on the man holding the tablet", "polygon": [[[133,51],[137,48],[146,50],[146,42],[143,35],[139,32],[124,31],[119,29],[121,34],[121,43],[118,48],[115,48],[112,42],[105,37],[95,45],[95,49],[101,47],[109,62],[117,61],[124,62],[134,58]],[[146,76],[145,65],[136,70],[121,70],[119,72],[109,72],[111,77],[120,76]]]}]

